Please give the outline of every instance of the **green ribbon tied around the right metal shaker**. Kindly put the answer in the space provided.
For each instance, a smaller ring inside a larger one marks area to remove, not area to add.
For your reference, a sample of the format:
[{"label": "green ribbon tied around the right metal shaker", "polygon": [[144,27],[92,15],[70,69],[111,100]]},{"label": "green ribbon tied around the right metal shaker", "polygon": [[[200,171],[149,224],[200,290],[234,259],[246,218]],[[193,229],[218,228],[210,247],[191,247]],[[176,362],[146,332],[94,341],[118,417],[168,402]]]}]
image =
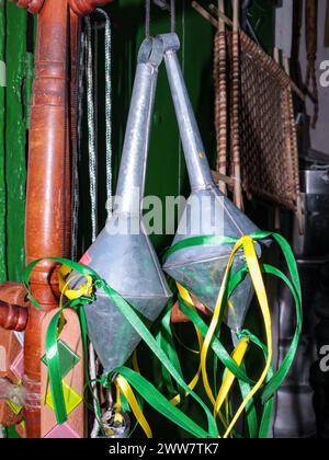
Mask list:
[{"label": "green ribbon tied around the right metal shaker", "polygon": [[[274,407],[274,399],[273,395],[281,387],[283,381],[285,380],[293,360],[295,358],[300,333],[302,333],[302,325],[303,325],[303,309],[302,309],[302,287],[300,287],[300,279],[298,274],[297,264],[293,254],[293,251],[287,243],[287,241],[277,233],[272,232],[264,232],[258,231],[251,234],[251,238],[254,241],[265,240],[269,238],[273,238],[277,244],[280,245],[285,261],[288,267],[288,272],[291,274],[292,280],[287,278],[280,269],[271,266],[271,265],[263,265],[262,272],[279,277],[282,281],[284,281],[288,289],[291,290],[294,301],[295,301],[295,311],[296,311],[296,330],[294,334],[294,338],[291,343],[288,353],[286,354],[284,360],[282,361],[279,370],[274,373],[274,370],[271,369],[268,378],[266,378],[266,386],[262,392],[262,404],[264,405],[263,416],[260,425],[259,430],[259,438],[265,438],[269,435],[272,413]],[[236,244],[238,239],[230,238],[230,237],[195,237],[191,239],[186,239],[184,241],[179,242],[178,244],[173,245],[164,255],[164,260],[168,260],[170,255],[175,253],[177,251],[181,251],[186,248],[195,246],[195,245],[205,245],[205,244]],[[239,272],[237,272],[231,279],[229,280],[228,288],[227,288],[227,296],[226,299],[229,299],[235,289],[243,281],[246,276],[248,275],[248,266],[246,265]],[[205,336],[207,333],[207,325],[203,322],[203,320],[195,313],[189,306],[184,304],[183,299],[179,298],[181,311],[196,325],[196,327],[201,331],[202,335]],[[260,347],[264,356],[268,356],[266,346],[261,343],[254,335],[251,333],[247,334],[247,336],[258,347]],[[251,390],[251,386],[254,383],[252,382],[248,376],[246,375],[246,370],[243,366],[240,368],[235,364],[231,357],[227,354],[226,349],[223,347],[220,342],[214,337],[213,343],[211,344],[213,352],[217,355],[218,359],[224,364],[226,368],[228,368],[239,380],[240,391],[242,398],[245,399]],[[247,419],[249,425],[249,433],[250,437],[256,437],[257,433],[257,415],[254,407],[252,409],[252,402],[249,403],[247,407]]]}]

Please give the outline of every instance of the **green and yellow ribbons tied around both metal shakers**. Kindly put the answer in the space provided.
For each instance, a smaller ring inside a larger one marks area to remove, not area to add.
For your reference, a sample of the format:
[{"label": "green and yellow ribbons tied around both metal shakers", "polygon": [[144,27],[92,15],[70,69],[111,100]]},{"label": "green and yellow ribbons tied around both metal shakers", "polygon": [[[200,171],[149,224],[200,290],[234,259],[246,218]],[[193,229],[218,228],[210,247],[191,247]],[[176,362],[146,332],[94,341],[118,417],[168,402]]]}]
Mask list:
[{"label": "green and yellow ribbons tied around both metal shakers", "polygon": [[[272,238],[280,245],[287,264],[290,277],[280,269],[271,265],[262,264],[259,261],[254,244],[257,241],[268,240],[269,238]],[[152,355],[160,361],[162,368],[162,384],[168,384],[171,392],[174,391],[174,387],[178,389],[178,394],[173,395],[171,399],[167,399],[162,394],[162,391],[160,392],[155,384],[140,375],[136,356],[133,359],[134,369],[129,367],[120,367],[111,372],[111,375],[104,376],[101,379],[101,383],[105,388],[111,388],[112,383],[115,382],[117,391],[124,396],[123,400],[131,406],[132,412],[147,437],[151,437],[152,432],[145,418],[139,399],[147,401],[147,403],[157,412],[162,414],[173,424],[183,428],[189,435],[196,438],[241,437],[241,435],[235,430],[235,427],[243,413],[246,413],[250,438],[266,438],[269,436],[274,405],[274,394],[290,371],[302,332],[302,289],[297,265],[292,249],[286,240],[280,234],[271,232],[256,232],[251,235],[245,235],[241,239],[229,237],[191,238],[180,242],[175,246],[172,246],[166,256],[168,257],[170,253],[180,251],[188,246],[203,244],[228,244],[234,245],[234,249],[209,325],[207,325],[204,319],[197,313],[190,294],[183,286],[178,286],[178,301],[180,309],[193,323],[200,347],[200,365],[195,377],[189,384],[185,382],[183,377],[180,359],[174,346],[173,331],[170,322],[174,303],[173,300],[169,302],[166,312],[159,320],[159,333],[157,336],[154,336],[144,324],[143,320],[140,320],[138,314],[135,312],[133,306],[127,303],[104,280],[100,279],[94,271],[71,261],[49,257],[57,263],[73,269],[76,273],[83,275],[87,279],[86,286],[80,288],[78,295],[70,296],[71,298],[73,297],[72,300],[69,300],[65,306],[61,302],[61,308],[50,322],[46,335],[46,358],[49,372],[49,384],[58,424],[63,424],[67,419],[63,395],[63,376],[60,373],[60,359],[58,354],[58,338],[60,335],[60,323],[64,319],[65,308],[75,309],[79,314],[83,347],[86,356],[88,356],[87,322],[83,306],[93,302],[95,291],[98,289],[103,289],[106,296],[115,302],[117,309],[140,335],[144,343],[151,350]],[[232,273],[235,256],[241,250],[246,256],[246,265],[239,272]],[[41,307],[29,291],[29,279],[32,271],[39,262],[41,260],[35,261],[27,267],[24,279],[30,299],[36,309],[39,309]],[[230,356],[219,340],[222,321],[226,308],[229,308],[230,297],[248,274],[251,276],[260,306],[264,323],[265,343],[248,330],[237,332],[237,346]],[[273,349],[271,312],[263,281],[263,274],[275,276],[288,286],[294,297],[296,308],[295,335],[285,359],[275,372],[272,367]],[[69,281],[61,285],[61,289],[65,294],[68,294],[66,290]],[[248,377],[245,366],[245,357],[251,345],[261,350],[265,361],[265,366],[257,381]],[[211,355],[215,358],[216,366],[220,363],[225,368],[222,387],[218,392],[215,391],[209,383],[207,366]],[[208,401],[205,402],[195,392],[195,388],[201,380],[209,403]],[[229,396],[235,380],[239,383],[242,403],[234,415],[232,404],[230,404]],[[88,376],[87,382],[90,386]],[[135,396],[133,389],[140,398],[138,396],[137,399]],[[192,398],[204,411],[207,421],[207,428],[200,426],[178,407],[186,396]],[[213,410],[211,411],[209,407],[213,407]],[[225,409],[225,414],[222,413],[223,407]],[[258,410],[260,407],[262,409],[262,416],[259,421]],[[100,413],[97,414],[97,416],[100,417]]]}]

